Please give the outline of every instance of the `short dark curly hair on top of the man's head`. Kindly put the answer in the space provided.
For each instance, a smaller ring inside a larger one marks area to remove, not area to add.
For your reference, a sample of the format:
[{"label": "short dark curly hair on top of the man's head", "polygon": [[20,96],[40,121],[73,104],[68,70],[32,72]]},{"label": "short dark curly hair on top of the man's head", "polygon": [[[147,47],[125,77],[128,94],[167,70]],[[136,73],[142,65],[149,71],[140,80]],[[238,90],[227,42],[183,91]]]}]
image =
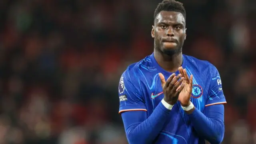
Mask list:
[{"label": "short dark curly hair on top of the man's head", "polygon": [[156,16],[161,11],[180,12],[186,20],[186,10],[181,2],[177,2],[175,0],[163,0],[160,2],[154,12],[154,22],[156,20]]}]

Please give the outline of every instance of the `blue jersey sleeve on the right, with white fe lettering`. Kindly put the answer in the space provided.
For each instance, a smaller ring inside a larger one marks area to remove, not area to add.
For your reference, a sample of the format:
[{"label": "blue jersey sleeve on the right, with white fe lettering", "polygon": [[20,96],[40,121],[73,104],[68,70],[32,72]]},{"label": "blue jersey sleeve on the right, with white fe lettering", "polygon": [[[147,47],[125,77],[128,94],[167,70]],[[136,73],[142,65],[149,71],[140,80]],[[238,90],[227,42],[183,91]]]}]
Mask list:
[{"label": "blue jersey sleeve on the right, with white fe lettering", "polygon": [[209,65],[211,74],[210,89],[208,92],[208,98],[205,106],[211,106],[214,104],[226,104],[227,102],[222,90],[220,74],[214,65],[210,63]]}]

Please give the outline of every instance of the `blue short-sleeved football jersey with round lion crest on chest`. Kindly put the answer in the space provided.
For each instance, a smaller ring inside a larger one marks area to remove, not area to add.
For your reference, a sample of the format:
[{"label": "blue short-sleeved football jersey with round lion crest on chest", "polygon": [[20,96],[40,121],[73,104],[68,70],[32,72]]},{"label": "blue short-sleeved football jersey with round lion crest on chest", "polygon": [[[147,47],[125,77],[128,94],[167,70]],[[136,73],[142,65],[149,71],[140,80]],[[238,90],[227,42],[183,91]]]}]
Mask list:
[{"label": "blue short-sleeved football jersey with round lion crest on chest", "polygon": [[[193,75],[191,102],[198,110],[204,113],[206,106],[226,103],[220,74],[214,65],[183,54],[182,67],[188,76]],[[119,113],[142,110],[149,117],[164,97],[159,73],[166,80],[172,74],[158,65],[154,54],[128,66],[119,82]],[[204,138],[196,133],[179,102],[172,108],[168,119],[154,140],[155,144],[204,143]]]}]

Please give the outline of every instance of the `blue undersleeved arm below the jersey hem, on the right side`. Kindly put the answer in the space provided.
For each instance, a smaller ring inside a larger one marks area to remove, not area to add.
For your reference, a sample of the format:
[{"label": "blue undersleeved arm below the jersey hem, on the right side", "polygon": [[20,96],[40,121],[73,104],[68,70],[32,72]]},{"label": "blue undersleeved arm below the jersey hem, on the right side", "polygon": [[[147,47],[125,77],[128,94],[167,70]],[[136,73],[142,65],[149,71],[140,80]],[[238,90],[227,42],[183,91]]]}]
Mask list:
[{"label": "blue undersleeved arm below the jersey hem, on the right side", "polygon": [[224,137],[224,106],[214,105],[206,108],[206,115],[195,108],[188,115],[194,128],[211,144],[220,144]]}]

